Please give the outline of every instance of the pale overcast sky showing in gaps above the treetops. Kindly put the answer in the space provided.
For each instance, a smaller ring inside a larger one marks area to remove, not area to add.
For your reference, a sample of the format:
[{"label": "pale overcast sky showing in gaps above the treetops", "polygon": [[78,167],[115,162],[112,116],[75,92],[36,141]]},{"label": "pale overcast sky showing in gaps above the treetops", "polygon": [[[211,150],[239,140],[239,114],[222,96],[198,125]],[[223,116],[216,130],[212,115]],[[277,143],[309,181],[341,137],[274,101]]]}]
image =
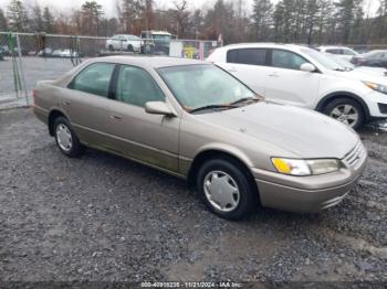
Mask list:
[{"label": "pale overcast sky showing in gaps above the treetops", "polygon": [[[0,8],[3,10],[7,9],[7,6],[9,4],[10,0],[0,0]],[[116,13],[116,1],[117,0],[96,0],[100,4],[103,6],[103,9],[105,11],[105,14],[107,17],[115,15]],[[155,0],[155,3],[157,8],[165,9],[168,7],[171,7],[175,0]],[[209,7],[211,6],[216,0],[189,0],[190,8],[201,8],[202,6]],[[249,10],[251,10],[251,3],[252,0],[244,0]],[[272,0],[272,2],[278,2],[279,0]],[[53,9],[62,9],[62,10],[72,10],[76,8],[81,8],[82,3],[85,2],[85,0],[23,0],[25,4],[32,6],[34,3],[40,3],[42,6],[49,6]],[[372,13],[375,13],[378,9],[378,2],[377,0],[365,0],[365,9],[366,11],[369,10]]]}]

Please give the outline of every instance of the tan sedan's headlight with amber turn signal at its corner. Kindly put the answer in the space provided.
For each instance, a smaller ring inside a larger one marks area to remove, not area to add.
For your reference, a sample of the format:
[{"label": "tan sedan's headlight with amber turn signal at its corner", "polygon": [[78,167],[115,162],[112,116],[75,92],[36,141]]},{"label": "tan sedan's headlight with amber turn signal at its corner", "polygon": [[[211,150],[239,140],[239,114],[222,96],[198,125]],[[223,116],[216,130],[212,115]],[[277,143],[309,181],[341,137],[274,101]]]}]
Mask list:
[{"label": "tan sedan's headlight with amber turn signal at its corner", "polygon": [[339,161],[334,159],[293,160],[273,158],[272,162],[278,172],[289,175],[317,175],[339,170]]}]

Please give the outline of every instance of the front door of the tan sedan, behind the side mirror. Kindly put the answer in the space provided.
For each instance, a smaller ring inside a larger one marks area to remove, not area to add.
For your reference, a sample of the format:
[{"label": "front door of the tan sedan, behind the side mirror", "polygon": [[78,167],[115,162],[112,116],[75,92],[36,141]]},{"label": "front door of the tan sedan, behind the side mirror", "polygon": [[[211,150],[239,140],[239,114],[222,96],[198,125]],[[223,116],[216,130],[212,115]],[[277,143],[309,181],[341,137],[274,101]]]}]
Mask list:
[{"label": "front door of the tan sedan, behind the side mirror", "polygon": [[107,120],[108,149],[168,171],[178,171],[179,117],[150,115],[148,101],[167,101],[153,76],[121,65]]}]

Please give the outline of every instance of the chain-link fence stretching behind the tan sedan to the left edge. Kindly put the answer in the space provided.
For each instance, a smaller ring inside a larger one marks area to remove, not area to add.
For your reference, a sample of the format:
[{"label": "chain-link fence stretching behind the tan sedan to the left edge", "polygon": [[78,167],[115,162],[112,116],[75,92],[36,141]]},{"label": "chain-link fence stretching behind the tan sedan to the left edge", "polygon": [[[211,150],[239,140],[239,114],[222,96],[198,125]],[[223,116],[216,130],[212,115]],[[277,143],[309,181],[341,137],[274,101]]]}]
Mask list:
[{"label": "chain-link fence stretching behind the tan sedan to the left edge", "polygon": [[0,108],[29,105],[38,81],[56,78],[85,58],[163,55],[205,60],[221,45],[218,41],[0,32]]}]

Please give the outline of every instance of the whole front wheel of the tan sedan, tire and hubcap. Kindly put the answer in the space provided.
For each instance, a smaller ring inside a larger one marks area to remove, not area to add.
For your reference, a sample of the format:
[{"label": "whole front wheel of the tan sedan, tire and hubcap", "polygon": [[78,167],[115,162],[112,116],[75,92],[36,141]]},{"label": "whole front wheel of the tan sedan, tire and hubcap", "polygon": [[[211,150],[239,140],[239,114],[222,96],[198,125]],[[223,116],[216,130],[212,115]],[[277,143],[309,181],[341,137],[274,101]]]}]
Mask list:
[{"label": "whole front wheel of the tan sedan, tire and hubcap", "polygon": [[[231,158],[212,159],[203,163],[197,175],[197,189],[208,208],[229,221],[250,215],[259,205],[254,182]],[[236,189],[239,193],[233,192]]]}]

